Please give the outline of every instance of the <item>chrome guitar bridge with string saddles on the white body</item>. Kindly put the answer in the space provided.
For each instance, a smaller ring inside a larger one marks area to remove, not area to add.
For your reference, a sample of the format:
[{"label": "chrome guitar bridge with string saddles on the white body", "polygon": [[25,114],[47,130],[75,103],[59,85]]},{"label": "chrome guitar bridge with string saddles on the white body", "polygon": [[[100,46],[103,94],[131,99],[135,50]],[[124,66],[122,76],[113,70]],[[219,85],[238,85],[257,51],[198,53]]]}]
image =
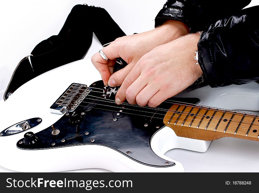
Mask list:
[{"label": "chrome guitar bridge with string saddles on the white body", "polygon": [[71,84],[67,90],[51,105],[50,112],[62,115],[74,111],[92,89],[84,84]]}]

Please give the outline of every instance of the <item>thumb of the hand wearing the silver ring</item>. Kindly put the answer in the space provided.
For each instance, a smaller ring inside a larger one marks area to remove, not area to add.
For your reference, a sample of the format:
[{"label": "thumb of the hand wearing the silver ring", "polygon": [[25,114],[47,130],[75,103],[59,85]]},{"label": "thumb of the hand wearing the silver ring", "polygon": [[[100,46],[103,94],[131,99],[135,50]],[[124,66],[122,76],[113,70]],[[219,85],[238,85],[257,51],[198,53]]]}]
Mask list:
[{"label": "thumb of the hand wearing the silver ring", "polygon": [[132,62],[132,63],[129,63],[124,68],[120,69],[119,71],[114,72],[108,80],[108,85],[112,87],[122,85],[126,76],[129,74],[129,72],[132,70],[134,66],[135,66],[135,62]]}]

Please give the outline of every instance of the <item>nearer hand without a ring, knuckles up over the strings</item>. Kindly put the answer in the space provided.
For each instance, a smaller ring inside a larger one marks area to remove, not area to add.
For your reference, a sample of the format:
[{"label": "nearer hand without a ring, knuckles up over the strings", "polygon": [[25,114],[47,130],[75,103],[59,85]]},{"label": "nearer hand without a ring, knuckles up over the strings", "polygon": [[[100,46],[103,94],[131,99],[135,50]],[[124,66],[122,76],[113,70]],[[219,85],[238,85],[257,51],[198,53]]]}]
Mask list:
[{"label": "nearer hand without a ring, knuckles up over the strings", "polygon": [[200,34],[157,46],[142,56],[119,88],[115,101],[156,107],[190,86],[202,75],[194,60]]}]

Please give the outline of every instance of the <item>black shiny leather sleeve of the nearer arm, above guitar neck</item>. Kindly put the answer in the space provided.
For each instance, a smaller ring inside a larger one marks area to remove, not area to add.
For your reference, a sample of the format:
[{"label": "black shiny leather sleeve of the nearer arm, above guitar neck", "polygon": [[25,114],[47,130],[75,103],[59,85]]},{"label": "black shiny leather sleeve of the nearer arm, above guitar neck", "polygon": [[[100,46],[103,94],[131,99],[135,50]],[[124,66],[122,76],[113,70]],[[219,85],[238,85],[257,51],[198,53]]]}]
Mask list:
[{"label": "black shiny leather sleeve of the nearer arm, above guitar neck", "polygon": [[259,6],[211,24],[198,43],[198,61],[211,87],[259,80]]}]

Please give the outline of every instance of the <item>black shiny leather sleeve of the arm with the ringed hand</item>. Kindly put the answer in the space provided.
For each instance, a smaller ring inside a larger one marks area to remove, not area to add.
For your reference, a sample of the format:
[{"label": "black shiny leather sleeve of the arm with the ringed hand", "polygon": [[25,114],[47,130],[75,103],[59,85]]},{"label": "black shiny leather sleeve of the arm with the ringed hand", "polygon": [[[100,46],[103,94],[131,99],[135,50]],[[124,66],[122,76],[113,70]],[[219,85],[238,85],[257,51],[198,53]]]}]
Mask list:
[{"label": "black shiny leather sleeve of the arm with the ringed hand", "polygon": [[209,23],[240,11],[250,2],[251,0],[167,0],[155,18],[155,26],[172,19],[185,23],[192,33],[203,31]]}]

